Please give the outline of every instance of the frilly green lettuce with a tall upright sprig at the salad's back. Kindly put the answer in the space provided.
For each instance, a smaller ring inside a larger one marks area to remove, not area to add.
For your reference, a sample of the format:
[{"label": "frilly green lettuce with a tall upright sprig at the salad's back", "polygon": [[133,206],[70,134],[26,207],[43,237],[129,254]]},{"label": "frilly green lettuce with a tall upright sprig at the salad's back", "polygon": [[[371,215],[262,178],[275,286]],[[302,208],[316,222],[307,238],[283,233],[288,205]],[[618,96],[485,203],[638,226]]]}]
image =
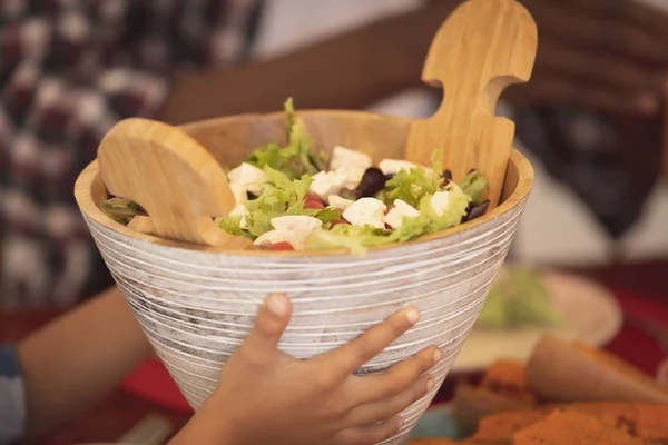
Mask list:
[{"label": "frilly green lettuce with a tall upright sprig at the salad's back", "polygon": [[245,162],[264,169],[266,166],[284,172],[289,179],[315,175],[330,164],[327,155],[315,149],[302,119],[295,118],[293,100],[285,102],[286,147],[268,142],[253,150]]}]

